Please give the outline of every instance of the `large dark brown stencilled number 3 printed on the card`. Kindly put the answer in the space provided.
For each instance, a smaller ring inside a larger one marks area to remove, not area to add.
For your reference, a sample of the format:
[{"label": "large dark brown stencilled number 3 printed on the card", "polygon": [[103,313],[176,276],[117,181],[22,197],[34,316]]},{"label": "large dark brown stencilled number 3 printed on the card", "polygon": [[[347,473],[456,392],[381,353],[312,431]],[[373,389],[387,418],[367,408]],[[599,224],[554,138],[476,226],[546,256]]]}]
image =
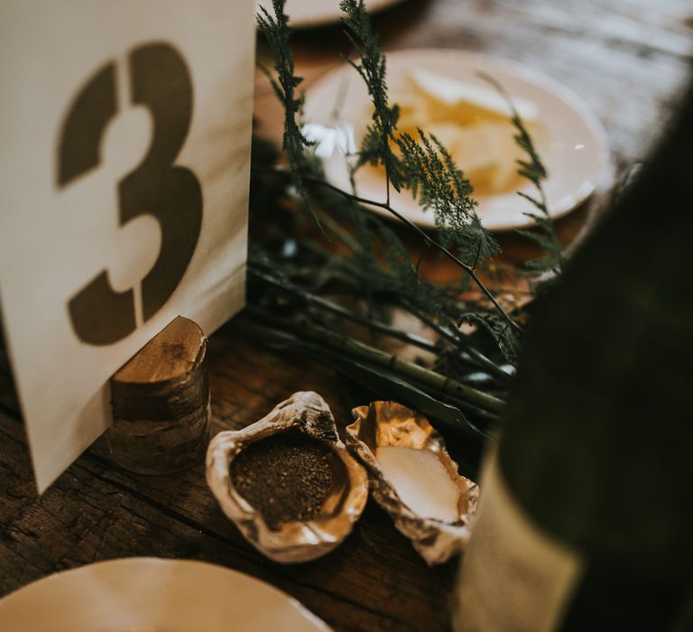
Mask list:
[{"label": "large dark brown stencilled number 3 printed on the card", "polygon": [[[119,220],[144,214],[162,229],[162,246],[142,281],[143,320],[148,321],[175,292],[190,263],[202,225],[202,192],[195,174],[174,164],[188,135],[192,82],[185,60],[170,45],[135,49],[128,60],[134,104],[152,114],[152,144],[144,160],[118,182]],[[60,133],[57,179],[66,187],[97,167],[108,122],[117,114],[115,63],[88,81],[73,101]],[[137,327],[134,290],[115,292],[107,271],[68,302],[72,328],[90,345],[110,345]]]}]

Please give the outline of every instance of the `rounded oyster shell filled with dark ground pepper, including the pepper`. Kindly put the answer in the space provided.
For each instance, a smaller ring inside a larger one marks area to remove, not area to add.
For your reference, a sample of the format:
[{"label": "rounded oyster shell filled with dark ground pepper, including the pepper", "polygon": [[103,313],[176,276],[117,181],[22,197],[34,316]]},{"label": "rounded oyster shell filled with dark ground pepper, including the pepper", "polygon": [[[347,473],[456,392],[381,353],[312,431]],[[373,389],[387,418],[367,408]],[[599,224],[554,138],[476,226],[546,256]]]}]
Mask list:
[{"label": "rounded oyster shell filled with dark ground pepper, including the pepper", "polygon": [[365,507],[368,479],[337,436],[328,404],[300,392],[207,453],[208,486],[240,532],[276,562],[329,553]]}]

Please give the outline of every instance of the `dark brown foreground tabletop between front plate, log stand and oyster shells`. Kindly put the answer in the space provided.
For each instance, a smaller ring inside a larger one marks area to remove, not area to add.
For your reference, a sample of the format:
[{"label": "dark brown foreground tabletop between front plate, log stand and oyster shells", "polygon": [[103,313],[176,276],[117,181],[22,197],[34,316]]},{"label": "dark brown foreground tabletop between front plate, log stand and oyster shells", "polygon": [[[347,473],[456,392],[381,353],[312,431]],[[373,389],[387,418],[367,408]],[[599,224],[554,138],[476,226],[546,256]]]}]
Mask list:
[{"label": "dark brown foreground tabletop between front plate, log stand and oyster shells", "polygon": [[[336,378],[310,363],[252,349],[226,332],[210,340],[216,429],[242,427],[295,390],[324,394],[342,424]],[[337,630],[445,629],[455,564],[430,570],[369,503],[345,544],[316,562],[282,566],[245,543],[205,484],[203,463],[147,477],[113,465],[101,442],[40,499],[23,427],[0,414],[0,592],[56,570],[126,555],[222,563],[270,581]],[[10,482],[11,481],[11,482]],[[21,481],[21,482],[20,482]]]}]

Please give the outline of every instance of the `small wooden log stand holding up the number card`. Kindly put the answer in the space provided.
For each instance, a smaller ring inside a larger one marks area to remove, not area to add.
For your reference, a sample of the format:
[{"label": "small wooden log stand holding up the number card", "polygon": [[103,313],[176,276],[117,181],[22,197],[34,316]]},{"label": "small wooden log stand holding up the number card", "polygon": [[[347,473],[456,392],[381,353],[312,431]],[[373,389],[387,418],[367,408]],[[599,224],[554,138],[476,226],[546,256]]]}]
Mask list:
[{"label": "small wooden log stand holding up the number card", "polygon": [[207,339],[178,317],[111,378],[111,459],[138,474],[204,460],[209,429]]}]

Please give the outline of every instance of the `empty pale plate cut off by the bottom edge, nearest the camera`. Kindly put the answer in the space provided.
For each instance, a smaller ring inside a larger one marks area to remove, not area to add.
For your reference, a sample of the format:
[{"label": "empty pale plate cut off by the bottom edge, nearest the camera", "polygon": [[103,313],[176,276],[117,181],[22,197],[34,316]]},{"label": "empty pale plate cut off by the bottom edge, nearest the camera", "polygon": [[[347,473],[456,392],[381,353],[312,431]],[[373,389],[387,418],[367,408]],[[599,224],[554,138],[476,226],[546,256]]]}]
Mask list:
[{"label": "empty pale plate cut off by the bottom edge, nearest the camera", "polygon": [[300,603],[243,573],[134,557],[60,572],[0,600],[4,632],[329,632]]}]

